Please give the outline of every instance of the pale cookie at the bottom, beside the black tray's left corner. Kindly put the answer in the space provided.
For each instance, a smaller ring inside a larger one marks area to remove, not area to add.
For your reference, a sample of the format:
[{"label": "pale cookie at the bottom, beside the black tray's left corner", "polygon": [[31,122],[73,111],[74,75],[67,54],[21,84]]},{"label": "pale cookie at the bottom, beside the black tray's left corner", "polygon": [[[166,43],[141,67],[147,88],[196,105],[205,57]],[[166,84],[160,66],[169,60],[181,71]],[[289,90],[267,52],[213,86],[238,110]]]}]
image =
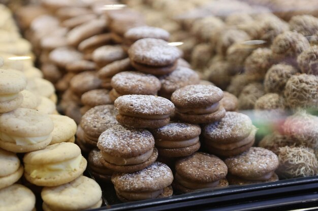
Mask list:
[{"label": "pale cookie at the bottom, beside the black tray's left corner", "polygon": [[45,187],[41,192],[44,211],[86,210],[102,205],[102,190],[94,180],[80,176],[56,187]]}]

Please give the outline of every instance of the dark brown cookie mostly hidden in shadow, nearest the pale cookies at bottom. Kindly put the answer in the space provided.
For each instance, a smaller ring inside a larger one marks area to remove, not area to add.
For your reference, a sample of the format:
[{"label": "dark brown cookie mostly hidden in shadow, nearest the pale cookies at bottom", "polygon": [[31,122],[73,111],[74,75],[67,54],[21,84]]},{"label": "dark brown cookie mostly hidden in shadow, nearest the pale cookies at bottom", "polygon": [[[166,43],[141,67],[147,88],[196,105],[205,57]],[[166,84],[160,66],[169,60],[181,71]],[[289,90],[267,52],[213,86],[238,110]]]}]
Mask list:
[{"label": "dark brown cookie mostly hidden in shadow, nearest the pale cookies at bottom", "polygon": [[88,168],[94,178],[103,182],[110,182],[114,171],[107,168],[101,160],[103,156],[98,149],[92,149],[88,154]]}]

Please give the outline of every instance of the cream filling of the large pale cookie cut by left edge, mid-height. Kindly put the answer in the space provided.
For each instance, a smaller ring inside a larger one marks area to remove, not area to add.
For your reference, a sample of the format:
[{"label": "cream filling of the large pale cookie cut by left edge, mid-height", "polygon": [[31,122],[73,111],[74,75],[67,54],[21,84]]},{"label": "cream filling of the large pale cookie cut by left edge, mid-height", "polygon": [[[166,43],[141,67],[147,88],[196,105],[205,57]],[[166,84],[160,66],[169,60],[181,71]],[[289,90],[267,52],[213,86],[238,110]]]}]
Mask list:
[{"label": "cream filling of the large pale cookie cut by left edge, mid-height", "polygon": [[40,136],[40,137],[18,137],[18,136],[12,136],[12,135],[0,132],[0,140],[4,142],[15,143],[16,145],[19,145],[19,146],[37,144],[47,140],[50,137],[52,137],[52,134],[49,134],[47,136]]}]

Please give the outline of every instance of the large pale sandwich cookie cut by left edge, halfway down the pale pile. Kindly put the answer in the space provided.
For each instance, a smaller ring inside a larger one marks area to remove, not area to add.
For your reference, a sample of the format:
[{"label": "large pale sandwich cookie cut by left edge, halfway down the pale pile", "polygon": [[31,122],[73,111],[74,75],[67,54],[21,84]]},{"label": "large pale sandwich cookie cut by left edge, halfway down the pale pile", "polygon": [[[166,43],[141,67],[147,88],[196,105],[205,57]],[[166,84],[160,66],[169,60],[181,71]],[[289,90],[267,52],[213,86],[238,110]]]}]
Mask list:
[{"label": "large pale sandwich cookie cut by left edge, halfway down the pale pile", "polygon": [[52,140],[53,122],[33,109],[18,108],[0,115],[0,146],[12,152],[45,148]]}]

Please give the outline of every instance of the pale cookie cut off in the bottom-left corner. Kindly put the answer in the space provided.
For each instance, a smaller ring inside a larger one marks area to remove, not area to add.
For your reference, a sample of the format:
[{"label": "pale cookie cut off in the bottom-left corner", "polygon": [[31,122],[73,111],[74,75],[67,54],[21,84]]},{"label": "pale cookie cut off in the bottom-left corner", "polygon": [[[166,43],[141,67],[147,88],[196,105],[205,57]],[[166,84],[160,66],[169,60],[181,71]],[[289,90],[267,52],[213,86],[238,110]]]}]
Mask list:
[{"label": "pale cookie cut off in the bottom-left corner", "polygon": [[0,190],[0,207],[3,210],[33,211],[35,204],[36,196],[23,185],[14,184]]}]

